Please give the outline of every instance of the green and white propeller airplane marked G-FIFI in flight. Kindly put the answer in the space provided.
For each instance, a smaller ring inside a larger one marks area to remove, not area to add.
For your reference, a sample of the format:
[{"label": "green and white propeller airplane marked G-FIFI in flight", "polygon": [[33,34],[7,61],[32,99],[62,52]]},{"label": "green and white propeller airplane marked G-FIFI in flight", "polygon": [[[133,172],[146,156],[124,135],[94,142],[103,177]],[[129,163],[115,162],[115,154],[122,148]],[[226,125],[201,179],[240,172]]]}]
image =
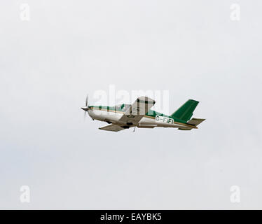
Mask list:
[{"label": "green and white propeller airplane marked G-FIFI in flight", "polygon": [[[118,104],[116,106],[89,106],[88,97],[85,106],[81,107],[92,120],[100,120],[109,125],[99,127],[99,130],[119,132],[130,127],[154,128],[175,127],[178,130],[198,129],[198,125],[205,119],[192,118],[198,101],[188,99],[177,111],[170,116],[151,110],[156,104],[149,97],[138,97],[133,104]],[[134,128],[135,131],[135,128]]]}]

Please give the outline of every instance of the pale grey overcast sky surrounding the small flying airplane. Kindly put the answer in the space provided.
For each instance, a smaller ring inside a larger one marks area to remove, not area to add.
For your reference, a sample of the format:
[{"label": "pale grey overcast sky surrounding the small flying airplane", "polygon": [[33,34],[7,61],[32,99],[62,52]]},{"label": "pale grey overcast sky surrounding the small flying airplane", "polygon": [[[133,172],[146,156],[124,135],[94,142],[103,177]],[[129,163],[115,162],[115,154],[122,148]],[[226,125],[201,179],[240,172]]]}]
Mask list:
[{"label": "pale grey overcast sky surrounding the small flying airplane", "polygon": [[[262,209],[261,9],[258,0],[1,1],[0,208]],[[170,113],[199,100],[194,116],[207,120],[191,132],[103,132],[80,107],[111,84],[169,90]]]}]

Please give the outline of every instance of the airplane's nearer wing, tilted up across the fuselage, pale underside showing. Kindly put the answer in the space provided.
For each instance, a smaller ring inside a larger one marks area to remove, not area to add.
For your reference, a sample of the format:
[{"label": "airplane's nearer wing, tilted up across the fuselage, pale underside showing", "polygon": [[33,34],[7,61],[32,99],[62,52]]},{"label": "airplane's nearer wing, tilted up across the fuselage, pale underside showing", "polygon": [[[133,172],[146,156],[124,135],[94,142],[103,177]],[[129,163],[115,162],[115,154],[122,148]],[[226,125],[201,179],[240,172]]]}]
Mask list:
[{"label": "airplane's nearer wing, tilted up across the fuselage, pale underside showing", "polygon": [[139,97],[119,119],[120,123],[137,125],[156,102],[149,97]]}]

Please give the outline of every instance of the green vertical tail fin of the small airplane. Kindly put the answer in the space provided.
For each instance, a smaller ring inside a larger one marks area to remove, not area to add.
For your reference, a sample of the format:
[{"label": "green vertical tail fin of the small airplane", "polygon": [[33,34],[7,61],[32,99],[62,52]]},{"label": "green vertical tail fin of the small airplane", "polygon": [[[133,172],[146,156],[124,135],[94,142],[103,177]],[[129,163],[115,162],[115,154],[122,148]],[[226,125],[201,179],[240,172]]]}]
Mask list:
[{"label": "green vertical tail fin of the small airplane", "polygon": [[186,103],[179,107],[177,111],[172,113],[172,117],[179,118],[180,120],[188,121],[193,116],[193,111],[198,106],[198,101],[188,99]]}]

